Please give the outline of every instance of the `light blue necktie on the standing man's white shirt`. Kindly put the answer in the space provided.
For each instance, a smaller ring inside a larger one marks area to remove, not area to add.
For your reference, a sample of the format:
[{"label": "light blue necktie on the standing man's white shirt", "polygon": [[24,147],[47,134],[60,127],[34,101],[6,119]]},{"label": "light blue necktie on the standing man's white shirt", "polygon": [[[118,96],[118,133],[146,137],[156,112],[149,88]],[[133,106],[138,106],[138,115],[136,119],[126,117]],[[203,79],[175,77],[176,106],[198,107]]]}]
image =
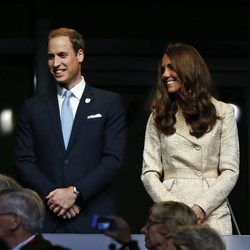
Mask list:
[{"label": "light blue necktie on the standing man's white shirt", "polygon": [[67,148],[69,143],[69,137],[74,120],[73,112],[70,105],[70,98],[72,96],[73,93],[70,90],[65,91],[61,109],[61,123],[65,148]]}]

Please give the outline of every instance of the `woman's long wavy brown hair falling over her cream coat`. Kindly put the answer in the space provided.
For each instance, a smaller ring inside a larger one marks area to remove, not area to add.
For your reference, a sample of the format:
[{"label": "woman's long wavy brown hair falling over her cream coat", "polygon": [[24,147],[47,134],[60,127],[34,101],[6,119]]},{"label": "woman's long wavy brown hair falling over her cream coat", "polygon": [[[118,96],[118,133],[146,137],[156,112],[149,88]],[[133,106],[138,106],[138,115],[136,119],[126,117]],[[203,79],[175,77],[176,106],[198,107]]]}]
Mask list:
[{"label": "woman's long wavy brown hair falling over her cream coat", "polygon": [[219,119],[211,102],[210,72],[199,52],[188,44],[170,43],[164,54],[170,58],[182,87],[178,93],[167,92],[160,63],[156,92],[150,104],[156,127],[166,135],[175,133],[175,115],[180,108],[190,125],[190,134],[199,138],[211,131]]}]

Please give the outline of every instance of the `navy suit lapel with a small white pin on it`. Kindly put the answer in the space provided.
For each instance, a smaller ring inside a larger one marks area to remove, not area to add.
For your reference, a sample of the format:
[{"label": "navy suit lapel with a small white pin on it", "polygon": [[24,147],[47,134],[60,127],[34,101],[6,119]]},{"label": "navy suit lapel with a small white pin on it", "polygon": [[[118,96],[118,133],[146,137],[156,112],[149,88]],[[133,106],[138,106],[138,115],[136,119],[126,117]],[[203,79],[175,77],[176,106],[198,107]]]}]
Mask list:
[{"label": "navy suit lapel with a small white pin on it", "polygon": [[83,121],[87,117],[87,111],[92,106],[93,102],[94,102],[93,88],[86,84],[80,103],[76,111],[72,131],[70,135],[68,150],[70,150],[70,148],[72,147],[74,140],[79,133],[79,130],[82,128]]}]

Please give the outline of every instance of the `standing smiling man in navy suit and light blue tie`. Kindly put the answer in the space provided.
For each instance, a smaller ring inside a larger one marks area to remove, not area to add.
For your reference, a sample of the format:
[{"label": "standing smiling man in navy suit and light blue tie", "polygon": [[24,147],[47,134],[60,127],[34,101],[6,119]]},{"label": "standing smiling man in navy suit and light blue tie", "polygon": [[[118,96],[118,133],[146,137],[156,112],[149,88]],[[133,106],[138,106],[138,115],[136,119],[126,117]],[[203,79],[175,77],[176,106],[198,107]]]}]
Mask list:
[{"label": "standing smiling man in navy suit and light blue tie", "polygon": [[[124,107],[120,95],[85,82],[83,60],[84,40],[76,30],[49,33],[48,66],[57,95],[27,100],[17,130],[17,174],[45,200],[47,233],[94,233],[93,215],[116,211],[110,187],[123,162]],[[71,115],[64,115],[68,90]],[[68,142],[65,116],[74,119]]]}]

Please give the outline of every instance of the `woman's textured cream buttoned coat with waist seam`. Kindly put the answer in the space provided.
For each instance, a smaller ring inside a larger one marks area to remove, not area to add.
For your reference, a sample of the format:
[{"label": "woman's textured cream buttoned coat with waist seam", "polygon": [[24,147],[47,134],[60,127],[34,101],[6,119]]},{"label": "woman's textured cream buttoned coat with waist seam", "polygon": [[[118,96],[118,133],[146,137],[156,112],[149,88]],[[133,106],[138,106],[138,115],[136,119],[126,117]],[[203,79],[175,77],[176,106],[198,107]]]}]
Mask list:
[{"label": "woman's textured cream buttoned coat with waist seam", "polygon": [[207,215],[205,223],[221,235],[232,234],[226,198],[239,175],[239,142],[232,105],[212,99],[217,115],[214,128],[196,138],[190,135],[180,111],[176,132],[166,136],[147,123],[142,182],[154,202],[174,200],[197,204]]}]

